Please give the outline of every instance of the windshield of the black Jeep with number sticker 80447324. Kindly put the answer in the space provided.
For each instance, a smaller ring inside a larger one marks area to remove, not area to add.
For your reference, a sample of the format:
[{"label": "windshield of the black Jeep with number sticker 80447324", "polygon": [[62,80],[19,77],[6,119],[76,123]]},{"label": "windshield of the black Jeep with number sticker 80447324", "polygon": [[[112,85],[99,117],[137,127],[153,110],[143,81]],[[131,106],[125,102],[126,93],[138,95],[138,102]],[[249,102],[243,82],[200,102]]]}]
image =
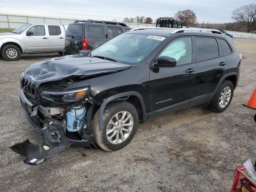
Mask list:
[{"label": "windshield of the black Jeep with number sticker 80447324", "polygon": [[91,52],[125,64],[137,64],[164,40],[165,37],[143,34],[121,34]]}]

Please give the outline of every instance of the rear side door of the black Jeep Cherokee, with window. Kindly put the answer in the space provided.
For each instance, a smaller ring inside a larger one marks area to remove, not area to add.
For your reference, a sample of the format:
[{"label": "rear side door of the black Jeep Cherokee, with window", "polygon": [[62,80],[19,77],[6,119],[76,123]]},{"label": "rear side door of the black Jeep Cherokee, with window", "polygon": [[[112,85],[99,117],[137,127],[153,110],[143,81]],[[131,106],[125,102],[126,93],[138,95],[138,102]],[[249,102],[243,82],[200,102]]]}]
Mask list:
[{"label": "rear side door of the black Jeep Cherokee, with window", "polygon": [[195,37],[198,74],[193,97],[213,94],[220,80],[228,73],[228,63],[216,38]]}]

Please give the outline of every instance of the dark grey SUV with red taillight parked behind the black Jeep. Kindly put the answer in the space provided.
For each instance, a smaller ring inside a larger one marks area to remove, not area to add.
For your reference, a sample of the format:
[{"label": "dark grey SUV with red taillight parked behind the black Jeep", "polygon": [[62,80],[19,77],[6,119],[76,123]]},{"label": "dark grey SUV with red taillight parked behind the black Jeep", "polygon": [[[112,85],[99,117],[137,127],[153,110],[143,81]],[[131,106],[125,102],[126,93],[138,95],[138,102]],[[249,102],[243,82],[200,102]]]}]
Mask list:
[{"label": "dark grey SUV with red taillight parked behind the black Jeep", "polygon": [[76,20],[68,25],[63,54],[92,50],[96,42],[104,42],[129,31],[126,24],[111,21]]}]

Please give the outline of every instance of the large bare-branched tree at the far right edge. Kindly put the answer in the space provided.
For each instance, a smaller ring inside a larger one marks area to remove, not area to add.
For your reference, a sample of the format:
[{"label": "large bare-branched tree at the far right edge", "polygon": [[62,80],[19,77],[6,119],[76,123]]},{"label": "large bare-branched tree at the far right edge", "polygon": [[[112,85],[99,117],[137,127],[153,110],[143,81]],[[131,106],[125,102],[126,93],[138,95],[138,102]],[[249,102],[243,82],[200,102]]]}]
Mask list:
[{"label": "large bare-branched tree at the far right edge", "polygon": [[248,33],[256,27],[256,4],[249,4],[236,8],[232,14],[233,16],[231,18],[246,26]]}]

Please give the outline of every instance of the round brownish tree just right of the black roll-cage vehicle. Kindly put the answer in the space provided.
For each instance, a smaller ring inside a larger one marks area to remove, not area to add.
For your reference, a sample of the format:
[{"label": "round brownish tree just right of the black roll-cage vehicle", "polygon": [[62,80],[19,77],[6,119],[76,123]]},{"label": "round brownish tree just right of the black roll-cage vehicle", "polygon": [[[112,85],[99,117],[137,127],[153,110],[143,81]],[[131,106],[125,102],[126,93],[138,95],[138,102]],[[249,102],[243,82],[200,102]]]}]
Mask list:
[{"label": "round brownish tree just right of the black roll-cage vehicle", "polygon": [[194,26],[195,24],[197,24],[196,14],[190,9],[178,11],[174,15],[174,18],[182,21],[183,26]]}]

